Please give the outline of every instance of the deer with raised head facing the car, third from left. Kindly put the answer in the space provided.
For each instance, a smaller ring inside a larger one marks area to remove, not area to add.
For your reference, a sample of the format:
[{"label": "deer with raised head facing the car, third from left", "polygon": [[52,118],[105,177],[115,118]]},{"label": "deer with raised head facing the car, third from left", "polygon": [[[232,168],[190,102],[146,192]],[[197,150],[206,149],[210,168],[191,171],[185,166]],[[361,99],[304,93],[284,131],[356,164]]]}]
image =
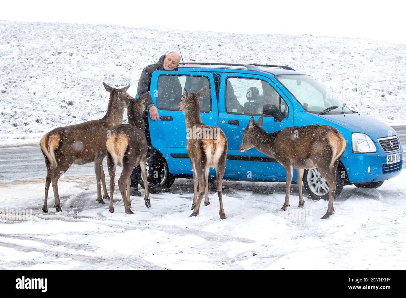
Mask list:
[{"label": "deer with raised head facing the car, third from left", "polygon": [[[203,87],[197,93],[189,93],[184,89],[184,96],[178,104],[179,109],[185,114],[186,131],[188,132],[186,151],[188,152],[193,171],[193,212],[190,216],[197,216],[199,214],[204,193],[205,205],[210,204],[208,197],[209,169],[215,167],[218,200],[220,201],[220,211],[218,214],[221,219],[225,219],[226,215],[223,209],[221,190],[222,178],[226,167],[228,143],[226,135],[220,127],[208,126],[201,121],[199,98],[206,93],[206,89],[206,87]],[[197,198],[198,183],[199,197]]]}]

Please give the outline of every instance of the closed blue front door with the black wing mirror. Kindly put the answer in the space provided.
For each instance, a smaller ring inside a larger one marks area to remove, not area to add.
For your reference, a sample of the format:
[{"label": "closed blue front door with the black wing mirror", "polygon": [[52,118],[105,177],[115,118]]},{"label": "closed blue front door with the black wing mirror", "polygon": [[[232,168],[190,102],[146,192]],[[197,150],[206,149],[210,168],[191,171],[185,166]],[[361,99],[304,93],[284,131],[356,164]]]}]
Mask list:
[{"label": "closed blue front door with the black wing mirror", "polygon": [[[224,73],[220,82],[218,125],[229,144],[225,177],[242,180],[283,180],[285,169],[255,148],[238,150],[242,133],[251,116],[255,122],[263,116],[262,128],[268,133],[293,125],[293,106],[285,94],[267,77],[253,74]],[[284,116],[282,122],[262,114],[264,104],[276,105]]]}]

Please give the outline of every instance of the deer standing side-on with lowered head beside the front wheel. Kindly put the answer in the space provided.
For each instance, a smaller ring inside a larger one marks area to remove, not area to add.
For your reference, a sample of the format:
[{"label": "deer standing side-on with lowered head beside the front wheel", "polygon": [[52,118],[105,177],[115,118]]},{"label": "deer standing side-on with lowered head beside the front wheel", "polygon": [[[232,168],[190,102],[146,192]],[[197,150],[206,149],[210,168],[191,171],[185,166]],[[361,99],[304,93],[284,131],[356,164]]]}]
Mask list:
[{"label": "deer standing side-on with lowered head beside the front wheel", "polygon": [[317,167],[330,187],[328,208],[322,219],[327,219],[334,213],[334,195],[337,185],[336,169],[341,155],[346,150],[346,140],[332,126],[312,124],[307,126],[286,127],[281,131],[266,133],[261,129],[263,116],[257,123],[251,117],[248,126],[242,134],[238,150],[245,152],[255,147],[259,152],[273,157],[286,171],[286,196],[281,210],[289,205],[290,184],[293,169],[297,172],[299,188],[299,207],[304,206],[302,195],[302,178],[304,169]]}]

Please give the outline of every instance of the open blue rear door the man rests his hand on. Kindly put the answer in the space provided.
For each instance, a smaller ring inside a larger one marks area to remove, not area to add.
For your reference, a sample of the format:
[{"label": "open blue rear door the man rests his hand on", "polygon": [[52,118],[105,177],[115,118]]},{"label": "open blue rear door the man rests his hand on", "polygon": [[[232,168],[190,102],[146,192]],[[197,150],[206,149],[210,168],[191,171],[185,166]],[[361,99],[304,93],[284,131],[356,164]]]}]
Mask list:
[{"label": "open blue rear door the man rests his hand on", "polygon": [[164,155],[172,174],[192,175],[186,154],[185,116],[177,105],[183,96],[183,88],[195,93],[203,87],[207,87],[207,91],[200,99],[201,120],[207,125],[217,125],[216,90],[211,73],[154,71],[152,74],[150,92],[159,119],[148,119],[151,143]]}]

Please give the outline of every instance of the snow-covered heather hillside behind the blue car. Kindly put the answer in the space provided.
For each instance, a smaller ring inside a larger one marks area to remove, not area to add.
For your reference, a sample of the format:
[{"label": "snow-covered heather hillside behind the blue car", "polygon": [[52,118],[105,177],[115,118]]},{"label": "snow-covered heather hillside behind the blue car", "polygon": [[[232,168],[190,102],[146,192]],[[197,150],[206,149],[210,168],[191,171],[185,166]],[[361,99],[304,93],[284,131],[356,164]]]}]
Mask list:
[{"label": "snow-covered heather hillside behind the blue car", "polygon": [[[187,26],[186,28],[187,29]],[[326,36],[244,35],[0,21],[0,133],[43,133],[102,117],[112,86],[181,45],[185,61],[292,66],[383,122],[406,123],[406,45]]]}]

